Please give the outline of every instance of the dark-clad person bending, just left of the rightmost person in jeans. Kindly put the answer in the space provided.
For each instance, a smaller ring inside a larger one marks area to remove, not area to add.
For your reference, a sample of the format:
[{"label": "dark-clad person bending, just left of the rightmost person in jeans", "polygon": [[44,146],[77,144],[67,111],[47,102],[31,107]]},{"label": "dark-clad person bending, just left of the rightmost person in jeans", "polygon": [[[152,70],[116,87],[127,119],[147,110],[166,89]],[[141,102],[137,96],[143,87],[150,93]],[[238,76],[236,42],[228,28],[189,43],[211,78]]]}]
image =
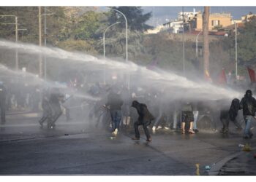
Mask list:
[{"label": "dark-clad person bending, just left of the rightmost person in jeans", "polygon": [[236,116],[238,115],[238,110],[239,110],[239,103],[240,103],[240,100],[238,98],[234,98],[231,102],[231,106],[229,109],[223,108],[220,111],[219,119],[222,121],[222,124],[223,124],[222,130],[220,132],[222,133],[228,132],[228,126],[230,121],[236,125],[238,130],[242,130],[241,124],[239,124],[236,119]]}]

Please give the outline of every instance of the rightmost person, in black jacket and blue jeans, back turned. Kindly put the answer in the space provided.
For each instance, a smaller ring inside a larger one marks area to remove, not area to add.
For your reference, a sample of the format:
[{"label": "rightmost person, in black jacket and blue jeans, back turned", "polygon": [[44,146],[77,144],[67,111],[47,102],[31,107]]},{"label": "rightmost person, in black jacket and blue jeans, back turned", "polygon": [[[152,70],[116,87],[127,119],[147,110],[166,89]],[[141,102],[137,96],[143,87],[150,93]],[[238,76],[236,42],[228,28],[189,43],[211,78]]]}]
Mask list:
[{"label": "rightmost person, in black jacket and blue jeans, back turned", "polygon": [[252,90],[246,90],[244,98],[241,99],[240,109],[243,109],[245,120],[244,138],[252,138],[251,123],[255,117],[256,100],[252,97]]}]

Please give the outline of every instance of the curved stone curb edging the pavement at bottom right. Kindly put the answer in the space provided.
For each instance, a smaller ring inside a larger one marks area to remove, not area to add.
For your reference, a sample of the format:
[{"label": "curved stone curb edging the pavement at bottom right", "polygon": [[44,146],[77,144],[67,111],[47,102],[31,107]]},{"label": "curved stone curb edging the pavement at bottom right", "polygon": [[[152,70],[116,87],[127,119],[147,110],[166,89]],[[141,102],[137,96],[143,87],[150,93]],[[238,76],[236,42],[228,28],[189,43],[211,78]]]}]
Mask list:
[{"label": "curved stone curb edging the pavement at bottom right", "polygon": [[[252,150],[255,150],[256,147],[252,148]],[[209,170],[208,175],[218,175],[219,174],[219,170],[227,163],[229,162],[231,159],[234,159],[238,156],[240,156],[241,154],[244,154],[245,151],[239,151],[236,154],[231,154],[228,157],[225,157],[224,159],[220,160],[219,162],[217,162],[214,166],[211,167],[211,170]]]}]

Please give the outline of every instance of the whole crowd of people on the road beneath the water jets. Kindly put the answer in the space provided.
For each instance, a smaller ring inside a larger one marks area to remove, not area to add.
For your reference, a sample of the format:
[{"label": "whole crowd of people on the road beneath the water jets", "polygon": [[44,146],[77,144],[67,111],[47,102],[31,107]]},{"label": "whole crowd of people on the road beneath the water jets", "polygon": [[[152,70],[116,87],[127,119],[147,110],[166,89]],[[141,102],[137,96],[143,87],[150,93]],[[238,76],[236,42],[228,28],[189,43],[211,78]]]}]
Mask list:
[{"label": "whole crowd of people on the road beneath the water jets", "polygon": [[[37,88],[37,87],[35,87]],[[37,90],[37,89],[36,89]],[[195,134],[197,130],[197,121],[200,120],[200,113],[203,109],[208,108],[207,106],[202,106],[200,102],[188,102],[186,100],[171,100],[168,102],[160,102],[158,96],[162,93],[157,92],[135,92],[134,90],[128,90],[126,87],[120,87],[116,85],[113,87],[108,87],[104,89],[99,84],[94,85],[89,90],[89,93],[93,96],[99,96],[100,94],[106,96],[106,100],[99,100],[94,104],[91,109],[91,113],[94,113],[96,117],[102,116],[102,112],[99,112],[99,108],[108,108],[112,133],[113,135],[118,135],[119,127],[122,124],[124,127],[129,127],[133,124],[135,131],[135,137],[133,140],[140,139],[140,132],[138,127],[143,125],[143,130],[146,134],[146,140],[151,141],[151,135],[148,130],[151,125],[152,131],[154,132],[157,128],[167,128],[167,129],[181,129],[181,133],[185,134]],[[1,123],[5,122],[5,112],[7,110],[7,90],[4,87],[3,82],[0,82],[0,112],[1,112]],[[48,127],[54,127],[56,120],[65,113],[67,120],[70,119],[69,109],[63,104],[67,98],[58,89],[45,90],[40,95],[42,95],[42,118],[39,119],[39,124],[42,127],[43,123],[46,121]],[[40,103],[37,100],[37,104]],[[168,103],[168,104],[166,104]],[[195,104],[196,103],[196,104]],[[229,132],[229,124],[233,122],[236,125],[237,130],[242,130],[241,123],[238,122],[238,111],[242,110],[244,115],[245,127],[244,127],[244,138],[252,138],[251,125],[253,119],[256,118],[256,100],[252,97],[252,90],[246,90],[244,98],[241,101],[238,98],[230,100],[219,101],[220,112],[214,113],[214,109],[208,109],[207,112],[212,112],[208,116],[211,120],[217,122],[219,116],[222,122],[222,133]],[[201,107],[201,108],[199,108]],[[202,109],[203,107],[203,109]],[[132,113],[132,108],[134,108],[137,114]],[[135,118],[138,116],[138,118]],[[178,119],[180,116],[180,119]],[[202,114],[201,114],[202,116]],[[214,117],[215,116],[215,117]],[[180,120],[180,122],[179,122]]]}]

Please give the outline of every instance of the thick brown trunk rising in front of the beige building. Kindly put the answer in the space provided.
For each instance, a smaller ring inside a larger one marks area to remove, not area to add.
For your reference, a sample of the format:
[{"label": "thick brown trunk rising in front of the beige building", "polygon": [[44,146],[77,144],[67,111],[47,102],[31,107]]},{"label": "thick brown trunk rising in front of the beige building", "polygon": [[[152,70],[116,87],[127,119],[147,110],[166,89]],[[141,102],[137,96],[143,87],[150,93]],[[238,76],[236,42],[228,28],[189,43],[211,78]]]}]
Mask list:
[{"label": "thick brown trunk rising in front of the beige building", "polygon": [[209,29],[209,11],[210,7],[204,7],[203,12],[203,73],[204,76],[210,79],[209,73],[209,41],[208,41],[208,29]]}]

